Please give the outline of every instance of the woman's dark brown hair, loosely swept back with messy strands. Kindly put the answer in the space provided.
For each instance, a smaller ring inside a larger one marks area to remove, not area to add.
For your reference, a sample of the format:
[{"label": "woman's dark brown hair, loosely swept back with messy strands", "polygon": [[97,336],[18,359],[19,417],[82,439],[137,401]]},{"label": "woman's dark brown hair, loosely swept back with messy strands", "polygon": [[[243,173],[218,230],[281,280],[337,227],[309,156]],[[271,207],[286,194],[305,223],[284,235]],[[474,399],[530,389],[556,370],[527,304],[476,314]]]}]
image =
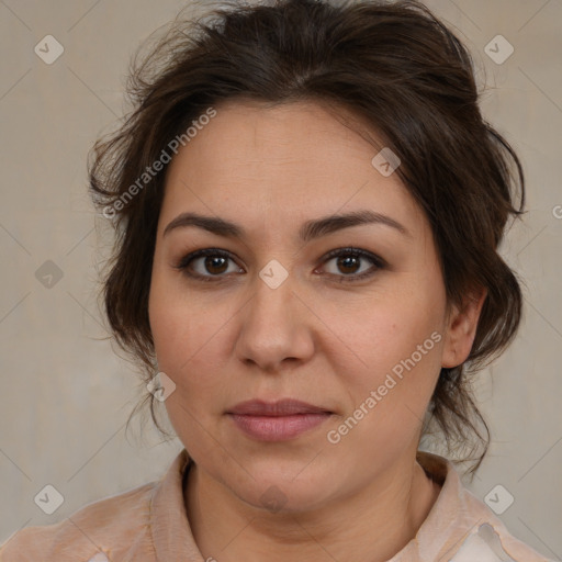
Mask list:
[{"label": "woman's dark brown hair, loosely swept back with messy strands", "polygon": [[[430,223],[448,302],[487,291],[472,351],[441,369],[428,412],[449,453],[480,450],[463,459],[476,460],[474,472],[490,432],[472,397],[473,374],[507,347],[521,316],[518,281],[497,249],[508,220],[522,212],[525,180],[517,155],[482,117],[472,60],[456,35],[415,0],[231,2],[172,22],[135,59],[127,86],[133,111],[98,140],[89,175],[94,203],[114,218],[105,312],[145,382],[156,368],[148,293],[167,165],[134,196],[124,194],[221,102],[328,104],[357,116],[400,157],[396,173]],[[165,434],[150,393],[137,408],[147,401]]]}]

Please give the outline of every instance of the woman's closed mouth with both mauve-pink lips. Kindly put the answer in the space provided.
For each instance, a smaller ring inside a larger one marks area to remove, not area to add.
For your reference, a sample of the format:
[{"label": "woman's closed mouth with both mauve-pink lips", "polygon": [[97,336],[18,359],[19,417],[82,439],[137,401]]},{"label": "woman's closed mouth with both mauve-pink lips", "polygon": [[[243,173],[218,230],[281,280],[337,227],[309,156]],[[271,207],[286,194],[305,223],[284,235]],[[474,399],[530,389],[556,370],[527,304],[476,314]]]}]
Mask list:
[{"label": "woman's closed mouth with both mauve-pink lips", "polygon": [[226,414],[246,436],[260,441],[286,441],[317,428],[334,412],[297,400],[241,402]]}]

